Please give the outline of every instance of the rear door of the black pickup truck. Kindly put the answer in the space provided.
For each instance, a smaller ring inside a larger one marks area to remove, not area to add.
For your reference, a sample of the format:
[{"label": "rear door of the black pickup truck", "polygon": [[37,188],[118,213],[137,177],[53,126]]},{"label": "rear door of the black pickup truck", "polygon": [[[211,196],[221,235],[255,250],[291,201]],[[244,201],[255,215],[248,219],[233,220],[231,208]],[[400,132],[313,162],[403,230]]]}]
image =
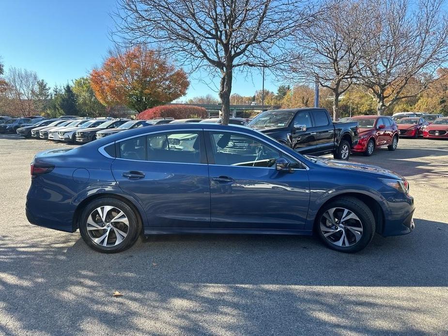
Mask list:
[{"label": "rear door of the black pickup truck", "polygon": [[311,114],[313,126],[311,135],[315,138],[315,151],[328,153],[334,150],[334,126],[325,110],[314,110]]}]

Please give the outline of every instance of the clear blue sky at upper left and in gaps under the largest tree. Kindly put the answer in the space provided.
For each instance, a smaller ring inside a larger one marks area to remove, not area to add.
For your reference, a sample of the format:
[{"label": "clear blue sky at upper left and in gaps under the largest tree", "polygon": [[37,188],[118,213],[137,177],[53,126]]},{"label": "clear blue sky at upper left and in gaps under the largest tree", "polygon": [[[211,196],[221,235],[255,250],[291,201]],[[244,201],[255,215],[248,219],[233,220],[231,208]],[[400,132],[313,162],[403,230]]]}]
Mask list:
[{"label": "clear blue sky at upper left and in gaps under the largest tree", "polygon": [[[0,57],[9,67],[33,70],[50,86],[86,76],[100,65],[113,46],[108,31],[114,29],[109,13],[115,0],[0,0]],[[190,78],[187,99],[213,94],[207,85]],[[216,84],[218,84],[216,80]],[[278,83],[266,79],[265,88]],[[235,74],[232,93],[252,95],[262,88],[262,76]]]}]

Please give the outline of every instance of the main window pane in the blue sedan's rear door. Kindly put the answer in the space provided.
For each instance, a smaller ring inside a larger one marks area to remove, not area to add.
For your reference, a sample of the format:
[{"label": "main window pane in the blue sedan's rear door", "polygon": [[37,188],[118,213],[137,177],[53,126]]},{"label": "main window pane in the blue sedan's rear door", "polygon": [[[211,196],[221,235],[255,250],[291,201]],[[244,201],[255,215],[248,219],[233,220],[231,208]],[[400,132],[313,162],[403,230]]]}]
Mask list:
[{"label": "main window pane in the blue sedan's rear door", "polygon": [[149,161],[201,163],[201,139],[198,132],[167,132],[147,137]]}]

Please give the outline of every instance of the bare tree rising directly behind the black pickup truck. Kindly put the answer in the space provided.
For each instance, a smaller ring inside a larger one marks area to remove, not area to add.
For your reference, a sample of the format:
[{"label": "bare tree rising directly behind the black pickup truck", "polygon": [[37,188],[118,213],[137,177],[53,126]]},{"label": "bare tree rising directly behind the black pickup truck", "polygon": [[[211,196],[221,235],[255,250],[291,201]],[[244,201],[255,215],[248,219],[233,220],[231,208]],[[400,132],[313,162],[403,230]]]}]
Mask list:
[{"label": "bare tree rising directly behind the black pickup truck", "polygon": [[374,33],[370,1],[330,0],[324,15],[298,32],[296,46],[302,57],[291,64],[285,77],[314,82],[333,94],[333,120],[340,118],[339,99],[353,84],[362,45]]}]

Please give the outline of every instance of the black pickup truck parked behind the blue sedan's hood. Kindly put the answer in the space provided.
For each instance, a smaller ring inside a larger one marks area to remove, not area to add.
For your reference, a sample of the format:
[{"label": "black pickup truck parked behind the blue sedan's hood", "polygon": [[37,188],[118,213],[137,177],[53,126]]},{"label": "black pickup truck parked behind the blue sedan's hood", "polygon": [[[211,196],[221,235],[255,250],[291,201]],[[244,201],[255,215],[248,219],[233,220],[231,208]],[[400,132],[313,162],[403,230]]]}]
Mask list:
[{"label": "black pickup truck parked behind the blue sedan's hood", "polygon": [[358,141],[357,122],[332,122],[324,108],[292,108],[265,111],[248,127],[257,129],[295,151],[309,155],[331,154],[348,160]]}]

